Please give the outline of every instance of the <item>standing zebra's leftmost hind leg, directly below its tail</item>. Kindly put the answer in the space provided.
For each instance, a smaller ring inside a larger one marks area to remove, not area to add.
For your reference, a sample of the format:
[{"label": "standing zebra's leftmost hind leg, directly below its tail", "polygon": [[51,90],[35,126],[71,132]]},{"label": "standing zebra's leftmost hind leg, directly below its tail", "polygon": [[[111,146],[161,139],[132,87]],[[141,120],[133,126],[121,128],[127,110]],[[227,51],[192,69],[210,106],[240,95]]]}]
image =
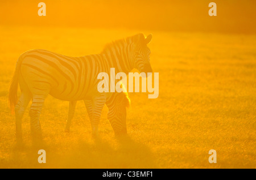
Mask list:
[{"label": "standing zebra's leftmost hind leg, directly below its tail", "polygon": [[31,98],[31,93],[23,90],[15,106],[16,142],[18,144],[22,144],[22,117]]}]

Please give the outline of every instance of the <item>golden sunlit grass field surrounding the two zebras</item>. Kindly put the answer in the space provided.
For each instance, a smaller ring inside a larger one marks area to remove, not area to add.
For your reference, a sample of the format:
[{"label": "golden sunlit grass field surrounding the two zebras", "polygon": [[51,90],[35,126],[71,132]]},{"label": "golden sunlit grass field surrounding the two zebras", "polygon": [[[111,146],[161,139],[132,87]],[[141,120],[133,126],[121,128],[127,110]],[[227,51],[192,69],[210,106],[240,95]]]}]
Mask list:
[{"label": "golden sunlit grass field surrounding the two zebras", "polygon": [[[49,96],[40,119],[47,163],[39,164],[28,109],[26,146],[14,148],[7,95],[19,55],[37,48],[96,54],[107,42],[141,31],[2,26],[0,32],[0,168],[256,168],[256,35],[143,32],[153,36],[149,47],[159,97],[129,94],[129,138],[114,138],[104,107],[101,140],[94,142],[83,102],[65,133],[68,102]],[[216,164],[208,162],[210,149],[217,151]]]}]

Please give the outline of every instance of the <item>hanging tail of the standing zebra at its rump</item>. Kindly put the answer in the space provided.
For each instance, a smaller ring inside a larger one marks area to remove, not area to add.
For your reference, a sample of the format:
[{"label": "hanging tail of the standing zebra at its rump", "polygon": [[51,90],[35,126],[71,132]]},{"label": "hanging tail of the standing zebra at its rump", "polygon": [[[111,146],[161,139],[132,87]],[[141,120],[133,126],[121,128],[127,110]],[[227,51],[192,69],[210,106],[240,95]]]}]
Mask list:
[{"label": "hanging tail of the standing zebra at its rump", "polygon": [[18,83],[19,83],[19,70],[20,70],[20,66],[22,64],[22,58],[19,57],[17,63],[16,63],[16,68],[15,68],[15,72],[13,75],[13,79],[11,80],[11,85],[10,85],[10,89],[9,89],[9,105],[11,108],[11,114],[14,114],[14,108],[15,105],[18,102],[18,97],[17,97],[17,91],[18,91]]}]

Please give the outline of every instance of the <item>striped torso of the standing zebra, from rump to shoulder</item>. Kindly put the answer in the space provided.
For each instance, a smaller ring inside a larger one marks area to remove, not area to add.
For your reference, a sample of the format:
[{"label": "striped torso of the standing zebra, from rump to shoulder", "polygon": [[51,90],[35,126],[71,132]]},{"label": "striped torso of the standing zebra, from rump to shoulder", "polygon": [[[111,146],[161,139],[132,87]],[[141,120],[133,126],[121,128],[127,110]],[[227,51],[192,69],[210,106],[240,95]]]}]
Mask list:
[{"label": "striped torso of the standing zebra, from rump to shoulder", "polygon": [[83,100],[97,93],[100,55],[68,57],[35,49],[21,55],[24,82],[32,93],[48,91],[60,100]]}]

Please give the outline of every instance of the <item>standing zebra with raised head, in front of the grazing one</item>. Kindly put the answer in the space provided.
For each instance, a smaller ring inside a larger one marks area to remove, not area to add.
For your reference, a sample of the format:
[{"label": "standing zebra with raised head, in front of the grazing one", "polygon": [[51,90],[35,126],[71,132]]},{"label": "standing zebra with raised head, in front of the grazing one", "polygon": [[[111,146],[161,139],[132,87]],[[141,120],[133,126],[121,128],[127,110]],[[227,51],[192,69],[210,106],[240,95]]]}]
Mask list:
[{"label": "standing zebra with raised head, in front of the grazing one", "polygon": [[[142,33],[114,41],[105,46],[100,54],[84,57],[68,57],[48,50],[29,50],[20,55],[9,90],[9,103],[15,112],[16,139],[22,141],[22,117],[28,102],[32,139],[42,140],[39,122],[40,112],[47,95],[65,101],[90,100],[92,136],[97,137],[98,123],[106,98],[110,93],[100,93],[97,75],[110,68],[128,74],[133,68],[140,72],[152,72],[150,49],[147,44],[152,35]],[[21,96],[17,97],[18,84]]]}]

